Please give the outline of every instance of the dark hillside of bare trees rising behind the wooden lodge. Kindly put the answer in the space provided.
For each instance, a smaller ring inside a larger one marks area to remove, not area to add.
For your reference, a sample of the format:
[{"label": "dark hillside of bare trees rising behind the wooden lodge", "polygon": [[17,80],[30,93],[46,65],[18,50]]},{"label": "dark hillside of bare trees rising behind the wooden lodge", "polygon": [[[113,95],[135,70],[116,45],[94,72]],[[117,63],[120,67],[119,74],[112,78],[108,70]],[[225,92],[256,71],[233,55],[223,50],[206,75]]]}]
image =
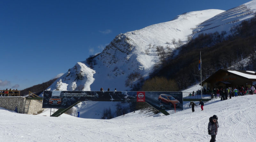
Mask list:
[{"label": "dark hillside of bare trees rising behind the wooden lodge", "polygon": [[[256,18],[243,21],[240,25],[232,27],[230,31],[230,35],[226,35],[223,31],[200,34],[195,39],[191,39],[177,49],[179,55],[168,56],[159,68],[156,67],[148,80],[154,80],[155,77],[172,79],[176,81],[179,89],[199,82],[200,51],[203,79],[221,68],[256,70]],[[243,59],[246,59],[246,64],[236,64]],[[145,83],[142,88],[147,86],[148,84]]]}]

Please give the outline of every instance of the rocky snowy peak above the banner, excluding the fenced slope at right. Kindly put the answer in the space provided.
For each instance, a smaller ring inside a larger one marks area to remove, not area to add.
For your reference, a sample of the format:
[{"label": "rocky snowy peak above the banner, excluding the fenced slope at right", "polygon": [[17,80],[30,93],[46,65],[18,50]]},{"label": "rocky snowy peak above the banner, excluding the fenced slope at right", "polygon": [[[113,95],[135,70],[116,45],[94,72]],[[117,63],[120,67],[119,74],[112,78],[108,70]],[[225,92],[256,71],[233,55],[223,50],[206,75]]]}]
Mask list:
[{"label": "rocky snowy peak above the banner, excluding the fenced slope at right", "polygon": [[101,87],[105,90],[110,87],[110,91],[115,88],[129,90],[130,87],[125,86],[128,75],[138,72],[147,78],[153,65],[159,61],[157,46],[163,46],[165,50],[173,49],[172,39],[186,42],[193,27],[221,12],[213,9],[188,12],[169,22],[119,34],[94,58],[96,65],[92,69],[85,61],[78,62],[47,90],[99,91]]}]

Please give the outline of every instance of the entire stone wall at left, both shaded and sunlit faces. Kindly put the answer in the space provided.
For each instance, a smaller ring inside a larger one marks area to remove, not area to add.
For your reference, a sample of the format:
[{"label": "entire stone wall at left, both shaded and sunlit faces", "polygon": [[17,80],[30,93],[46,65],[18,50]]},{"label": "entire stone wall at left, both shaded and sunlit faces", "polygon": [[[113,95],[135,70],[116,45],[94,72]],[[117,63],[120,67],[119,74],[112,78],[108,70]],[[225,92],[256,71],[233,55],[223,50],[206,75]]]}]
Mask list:
[{"label": "entire stone wall at left, both shaded and sunlit faces", "polygon": [[1,108],[14,111],[17,107],[19,113],[23,114],[34,114],[44,110],[42,105],[43,103],[39,100],[26,100],[25,97],[0,97]]}]

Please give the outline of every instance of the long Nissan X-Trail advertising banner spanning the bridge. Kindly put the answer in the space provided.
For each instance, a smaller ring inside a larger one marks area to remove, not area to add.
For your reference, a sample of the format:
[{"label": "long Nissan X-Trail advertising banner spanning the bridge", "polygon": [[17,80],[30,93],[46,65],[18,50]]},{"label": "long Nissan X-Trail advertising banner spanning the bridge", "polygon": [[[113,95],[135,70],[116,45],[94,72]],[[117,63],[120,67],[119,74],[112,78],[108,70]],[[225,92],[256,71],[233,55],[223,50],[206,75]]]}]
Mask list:
[{"label": "long Nissan X-Trail advertising banner spanning the bridge", "polygon": [[148,102],[156,109],[183,110],[182,92],[44,91],[43,108],[68,108],[77,101]]}]

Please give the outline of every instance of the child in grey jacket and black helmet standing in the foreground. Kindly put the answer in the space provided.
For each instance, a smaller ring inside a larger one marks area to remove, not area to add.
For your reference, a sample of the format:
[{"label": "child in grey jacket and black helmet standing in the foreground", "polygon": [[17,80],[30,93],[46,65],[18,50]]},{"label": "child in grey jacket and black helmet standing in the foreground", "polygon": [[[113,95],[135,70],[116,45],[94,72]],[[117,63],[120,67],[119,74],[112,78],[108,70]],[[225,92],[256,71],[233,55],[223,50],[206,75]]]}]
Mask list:
[{"label": "child in grey jacket and black helmet standing in the foreground", "polygon": [[219,128],[219,123],[218,123],[218,116],[213,115],[212,117],[209,118],[209,123],[208,123],[208,134],[211,135],[211,140],[210,142],[215,142],[215,138],[218,132]]}]

